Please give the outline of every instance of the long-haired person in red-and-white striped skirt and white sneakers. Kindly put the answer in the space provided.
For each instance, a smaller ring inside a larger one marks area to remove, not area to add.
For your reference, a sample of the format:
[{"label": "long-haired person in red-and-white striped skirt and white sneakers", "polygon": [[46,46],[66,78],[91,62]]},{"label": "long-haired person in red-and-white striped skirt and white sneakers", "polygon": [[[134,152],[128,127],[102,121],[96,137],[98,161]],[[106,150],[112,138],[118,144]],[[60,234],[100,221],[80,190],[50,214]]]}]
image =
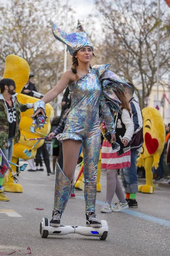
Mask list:
[{"label": "long-haired person in red-and-white striped skirt and white sneakers", "polygon": [[[111,143],[107,140],[103,141],[102,169],[107,169],[107,193],[106,204],[102,207],[101,212],[120,212],[129,207],[117,172],[119,169],[130,167],[130,140],[133,136],[134,125],[130,118],[130,105],[125,98],[125,93],[122,90],[116,90],[115,94],[122,102],[122,114],[115,113],[116,142],[119,143],[120,149],[118,152],[114,152]],[[119,203],[112,208],[111,201],[115,192]]]}]

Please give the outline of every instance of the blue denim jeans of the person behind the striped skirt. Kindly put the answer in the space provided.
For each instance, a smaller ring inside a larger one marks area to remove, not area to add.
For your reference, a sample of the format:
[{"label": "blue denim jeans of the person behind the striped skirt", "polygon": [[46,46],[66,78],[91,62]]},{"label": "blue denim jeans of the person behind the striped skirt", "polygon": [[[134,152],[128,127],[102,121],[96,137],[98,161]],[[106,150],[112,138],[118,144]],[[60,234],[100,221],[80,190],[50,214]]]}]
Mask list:
[{"label": "blue denim jeans of the person behind the striped skirt", "polygon": [[121,169],[120,174],[125,188],[125,193],[136,193],[138,192],[136,158],[139,151],[131,150],[130,152],[130,167]]}]

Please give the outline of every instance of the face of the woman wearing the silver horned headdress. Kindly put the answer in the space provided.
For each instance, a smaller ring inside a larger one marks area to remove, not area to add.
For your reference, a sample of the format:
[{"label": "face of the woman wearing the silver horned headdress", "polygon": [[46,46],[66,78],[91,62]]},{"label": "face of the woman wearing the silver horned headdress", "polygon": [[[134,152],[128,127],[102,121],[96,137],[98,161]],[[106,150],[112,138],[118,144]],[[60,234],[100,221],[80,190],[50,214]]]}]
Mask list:
[{"label": "face of the woman wearing the silver horned headdress", "polygon": [[85,63],[90,63],[92,57],[93,57],[93,51],[91,47],[85,46],[77,51],[77,54],[75,55],[78,61],[82,61]]}]

